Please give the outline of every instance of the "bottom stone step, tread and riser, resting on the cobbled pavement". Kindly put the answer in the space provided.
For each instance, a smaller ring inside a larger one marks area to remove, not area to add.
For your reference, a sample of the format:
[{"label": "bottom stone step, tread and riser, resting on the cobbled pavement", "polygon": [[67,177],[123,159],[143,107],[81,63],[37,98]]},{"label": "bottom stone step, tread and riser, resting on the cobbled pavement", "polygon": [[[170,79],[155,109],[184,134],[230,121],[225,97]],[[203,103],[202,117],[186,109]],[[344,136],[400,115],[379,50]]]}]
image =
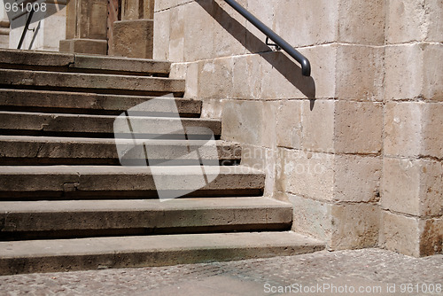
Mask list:
[{"label": "bottom stone step, tread and riser, resting on the cobbled pavement", "polygon": [[323,249],[323,242],[289,231],[0,242],[0,275],[232,261]]}]

